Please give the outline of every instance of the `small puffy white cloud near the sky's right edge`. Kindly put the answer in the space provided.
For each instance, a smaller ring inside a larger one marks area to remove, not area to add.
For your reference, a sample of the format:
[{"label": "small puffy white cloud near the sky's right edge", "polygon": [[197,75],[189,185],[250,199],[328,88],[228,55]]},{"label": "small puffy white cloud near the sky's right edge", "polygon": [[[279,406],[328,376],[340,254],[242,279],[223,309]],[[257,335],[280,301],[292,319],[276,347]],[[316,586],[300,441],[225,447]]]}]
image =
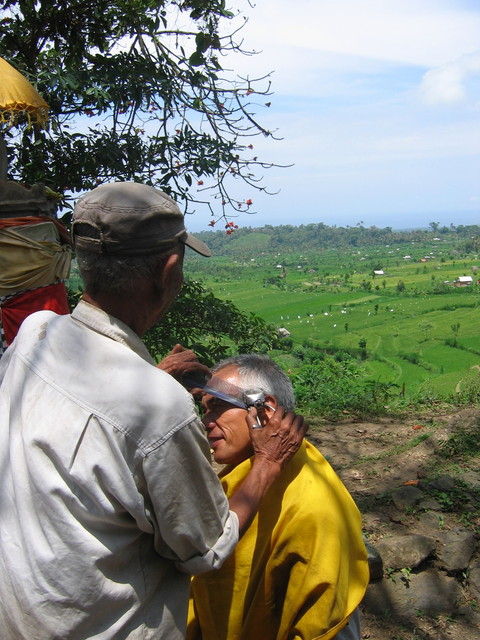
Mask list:
[{"label": "small puffy white cloud near the sky's right edge", "polygon": [[480,50],[428,71],[420,85],[426,104],[456,104],[468,98],[467,82],[480,75]]}]

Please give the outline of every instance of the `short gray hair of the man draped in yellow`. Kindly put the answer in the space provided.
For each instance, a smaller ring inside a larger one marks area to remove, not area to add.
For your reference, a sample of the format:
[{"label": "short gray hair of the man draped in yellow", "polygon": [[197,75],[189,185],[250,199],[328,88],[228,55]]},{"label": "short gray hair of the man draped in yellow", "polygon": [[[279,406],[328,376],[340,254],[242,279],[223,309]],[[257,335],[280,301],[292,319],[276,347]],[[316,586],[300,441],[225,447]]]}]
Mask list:
[{"label": "short gray hair of the man draped in yellow", "polygon": [[244,391],[259,390],[274,396],[277,403],[286,410],[295,406],[293,386],[287,374],[268,356],[256,353],[242,354],[218,362],[212,372],[216,373],[228,366],[238,370],[238,384]]}]

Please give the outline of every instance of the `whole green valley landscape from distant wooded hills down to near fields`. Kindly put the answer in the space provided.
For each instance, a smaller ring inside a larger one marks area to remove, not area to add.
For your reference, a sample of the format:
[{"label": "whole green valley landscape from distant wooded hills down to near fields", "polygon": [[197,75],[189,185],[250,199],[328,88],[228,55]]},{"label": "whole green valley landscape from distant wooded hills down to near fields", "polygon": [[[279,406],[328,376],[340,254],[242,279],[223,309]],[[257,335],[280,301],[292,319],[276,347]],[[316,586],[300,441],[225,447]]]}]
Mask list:
[{"label": "whole green valley landscape from distant wooded hills down to near fields", "polygon": [[[361,357],[372,383],[424,398],[477,397],[480,227],[392,231],[325,225],[203,234],[186,273],[308,345]],[[464,284],[463,281],[468,281]],[[363,354],[363,356],[362,356]]]}]

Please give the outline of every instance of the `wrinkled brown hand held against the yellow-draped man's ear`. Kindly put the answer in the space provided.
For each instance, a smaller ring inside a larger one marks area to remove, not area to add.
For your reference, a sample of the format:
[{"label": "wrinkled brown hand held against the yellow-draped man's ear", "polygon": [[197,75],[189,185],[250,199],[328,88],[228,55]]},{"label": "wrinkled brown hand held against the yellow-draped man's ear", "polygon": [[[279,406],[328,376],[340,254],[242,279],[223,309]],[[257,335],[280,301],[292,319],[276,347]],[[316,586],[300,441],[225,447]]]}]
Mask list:
[{"label": "wrinkled brown hand held against the yellow-draped man's ear", "polygon": [[263,429],[256,429],[257,410],[252,407],[247,415],[255,459],[275,462],[282,469],[297,452],[308,424],[303,416],[277,407]]}]

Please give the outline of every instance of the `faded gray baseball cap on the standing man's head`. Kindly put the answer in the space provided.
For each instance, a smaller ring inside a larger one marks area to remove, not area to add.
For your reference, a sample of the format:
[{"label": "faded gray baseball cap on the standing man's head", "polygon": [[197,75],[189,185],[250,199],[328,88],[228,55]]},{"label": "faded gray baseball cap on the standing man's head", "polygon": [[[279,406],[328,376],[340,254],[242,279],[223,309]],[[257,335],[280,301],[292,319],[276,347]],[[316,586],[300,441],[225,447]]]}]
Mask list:
[{"label": "faded gray baseball cap on the standing man's head", "polygon": [[139,256],[183,243],[202,256],[207,245],[187,233],[175,200],[139,182],[112,182],[82,196],[73,210],[74,246],[83,251]]}]

